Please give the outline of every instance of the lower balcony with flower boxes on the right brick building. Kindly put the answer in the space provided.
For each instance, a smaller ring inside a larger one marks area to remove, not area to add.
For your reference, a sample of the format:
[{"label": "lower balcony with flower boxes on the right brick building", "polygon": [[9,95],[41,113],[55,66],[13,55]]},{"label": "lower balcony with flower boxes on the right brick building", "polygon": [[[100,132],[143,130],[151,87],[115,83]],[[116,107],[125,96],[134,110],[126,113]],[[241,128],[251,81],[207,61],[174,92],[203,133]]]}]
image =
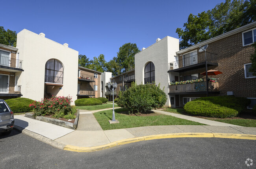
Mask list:
[{"label": "lower balcony with flower boxes on the right brick building", "polygon": [[[219,83],[209,81],[208,92],[209,94],[218,94]],[[169,94],[206,94],[206,81],[179,85],[169,85]]]}]

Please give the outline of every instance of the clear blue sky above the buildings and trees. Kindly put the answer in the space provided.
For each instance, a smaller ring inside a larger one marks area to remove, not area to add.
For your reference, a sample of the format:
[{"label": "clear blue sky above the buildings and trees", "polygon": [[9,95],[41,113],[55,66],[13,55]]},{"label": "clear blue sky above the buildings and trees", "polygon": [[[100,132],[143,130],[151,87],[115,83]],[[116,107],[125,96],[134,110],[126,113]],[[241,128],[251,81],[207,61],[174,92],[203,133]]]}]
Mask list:
[{"label": "clear blue sky above the buildings and trees", "polygon": [[128,42],[139,50],[157,38],[178,38],[190,13],[197,15],[224,0],[12,0],[1,2],[0,26],[28,29],[86,55],[117,56]]}]

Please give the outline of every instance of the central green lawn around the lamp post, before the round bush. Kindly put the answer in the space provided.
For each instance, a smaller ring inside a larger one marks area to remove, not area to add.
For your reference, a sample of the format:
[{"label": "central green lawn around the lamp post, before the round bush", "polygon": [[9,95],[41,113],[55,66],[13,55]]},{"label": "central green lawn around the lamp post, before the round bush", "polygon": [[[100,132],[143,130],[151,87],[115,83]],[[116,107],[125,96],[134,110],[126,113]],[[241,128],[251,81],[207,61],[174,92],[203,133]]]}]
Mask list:
[{"label": "central green lawn around the lamp post, before the round bush", "polygon": [[126,111],[124,108],[115,109],[115,119],[120,122],[117,124],[109,124],[108,122],[108,120],[112,119],[112,110],[96,112],[93,115],[103,130],[125,129],[153,125],[204,125],[194,121],[175,118],[173,116],[163,114],[159,114],[158,116],[129,116],[119,113],[124,111]]}]

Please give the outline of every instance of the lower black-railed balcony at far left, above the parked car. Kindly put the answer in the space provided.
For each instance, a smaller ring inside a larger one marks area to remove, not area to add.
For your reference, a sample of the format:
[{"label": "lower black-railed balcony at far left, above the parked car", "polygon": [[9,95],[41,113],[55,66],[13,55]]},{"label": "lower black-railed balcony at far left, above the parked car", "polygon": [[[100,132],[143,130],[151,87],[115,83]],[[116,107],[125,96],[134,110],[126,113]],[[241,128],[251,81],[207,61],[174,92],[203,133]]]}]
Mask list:
[{"label": "lower black-railed balcony at far left, above the parked car", "polygon": [[0,84],[0,96],[22,96],[20,93],[21,85],[9,86],[8,84]]}]

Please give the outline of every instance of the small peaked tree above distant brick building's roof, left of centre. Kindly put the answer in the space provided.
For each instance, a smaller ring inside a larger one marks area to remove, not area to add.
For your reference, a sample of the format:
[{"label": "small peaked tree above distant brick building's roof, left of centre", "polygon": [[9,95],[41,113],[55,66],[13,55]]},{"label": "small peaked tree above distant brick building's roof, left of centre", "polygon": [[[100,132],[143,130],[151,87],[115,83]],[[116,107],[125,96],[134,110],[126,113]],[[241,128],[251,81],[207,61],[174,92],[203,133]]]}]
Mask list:
[{"label": "small peaked tree above distant brick building's roof, left of centre", "polygon": [[99,72],[106,71],[106,60],[103,54],[100,54],[98,57],[93,57],[93,61],[91,64],[87,66],[87,68],[96,70]]}]

